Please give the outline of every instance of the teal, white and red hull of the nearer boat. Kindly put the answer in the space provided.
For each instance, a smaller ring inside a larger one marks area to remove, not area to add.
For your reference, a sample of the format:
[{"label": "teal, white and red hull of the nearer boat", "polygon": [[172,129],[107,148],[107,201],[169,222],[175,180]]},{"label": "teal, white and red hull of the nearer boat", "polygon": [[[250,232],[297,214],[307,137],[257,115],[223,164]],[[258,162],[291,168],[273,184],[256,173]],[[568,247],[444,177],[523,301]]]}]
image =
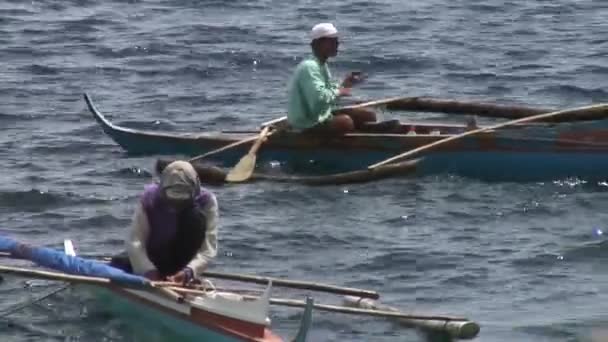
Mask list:
[{"label": "teal, white and red hull of the nearer boat", "polygon": [[[55,252],[47,252],[52,255]],[[75,257],[71,240],[64,241],[64,253]],[[68,261],[78,265],[78,260]],[[108,266],[103,266],[108,267]],[[82,269],[86,269],[85,266]],[[268,311],[272,282],[257,299],[245,302],[235,293],[211,291],[167,295],[167,290],[129,289],[114,285],[85,285],[104,309],[121,314],[131,324],[144,329],[165,328],[179,341],[283,342],[269,326]],[[307,298],[300,327],[293,342],[305,342],[312,322],[313,301]]]}]

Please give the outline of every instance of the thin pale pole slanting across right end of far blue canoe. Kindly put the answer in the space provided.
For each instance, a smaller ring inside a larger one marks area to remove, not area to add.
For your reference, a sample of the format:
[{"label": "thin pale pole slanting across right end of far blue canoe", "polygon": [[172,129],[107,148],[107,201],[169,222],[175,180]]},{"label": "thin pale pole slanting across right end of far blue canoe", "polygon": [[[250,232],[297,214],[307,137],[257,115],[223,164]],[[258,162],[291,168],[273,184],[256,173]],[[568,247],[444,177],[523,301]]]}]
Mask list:
[{"label": "thin pale pole slanting across right end of far blue canoe", "polygon": [[529,116],[526,118],[521,118],[521,119],[517,119],[517,120],[511,120],[508,122],[504,122],[501,124],[497,124],[497,125],[493,125],[493,126],[488,126],[488,127],[484,127],[484,128],[479,128],[479,129],[475,129],[472,131],[468,131],[462,134],[458,134],[455,136],[451,136],[445,139],[441,139],[435,142],[432,142],[430,144],[424,145],[424,146],[420,146],[418,148],[415,148],[413,150],[409,150],[407,152],[401,153],[399,155],[396,155],[394,157],[388,158],[386,160],[383,160],[381,162],[378,162],[376,164],[370,165],[368,166],[368,169],[375,169],[378,168],[380,166],[398,161],[398,160],[402,160],[408,157],[413,157],[417,154],[419,154],[420,152],[423,151],[429,151],[437,146],[441,146],[444,145],[446,143],[449,143],[451,141],[455,141],[458,139],[462,139],[464,137],[468,137],[471,135],[475,135],[475,134],[479,134],[479,133],[483,133],[483,132],[487,132],[490,130],[494,130],[494,129],[498,129],[498,128],[502,128],[502,127],[507,127],[507,126],[511,126],[511,125],[515,125],[515,124],[519,124],[519,123],[524,123],[524,122],[530,122],[530,121],[535,121],[535,120],[542,120],[542,119],[547,119],[547,118],[552,118],[552,117],[558,117],[558,116],[572,116],[572,117],[576,117],[576,116],[592,116],[592,117],[596,117],[596,118],[601,118],[601,117],[608,117],[608,104],[599,104],[599,105],[593,105],[593,106],[585,106],[585,107],[579,107],[579,108],[574,108],[574,109],[567,109],[567,110],[561,110],[561,111],[557,111],[557,112],[551,112],[551,113],[545,113],[545,114],[539,114],[539,115],[534,115],[534,116]]}]

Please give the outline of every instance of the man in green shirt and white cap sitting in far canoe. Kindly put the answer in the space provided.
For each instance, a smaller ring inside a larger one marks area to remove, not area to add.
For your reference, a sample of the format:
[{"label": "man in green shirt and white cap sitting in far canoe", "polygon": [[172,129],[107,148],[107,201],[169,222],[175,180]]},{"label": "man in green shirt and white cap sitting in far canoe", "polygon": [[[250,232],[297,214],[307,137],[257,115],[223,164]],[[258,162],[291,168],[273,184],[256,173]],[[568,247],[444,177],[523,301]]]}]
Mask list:
[{"label": "man in green shirt and white cap sitting in far canoe", "polygon": [[302,132],[343,134],[376,121],[376,115],[365,109],[334,112],[339,97],[349,96],[359,73],[350,73],[341,84],[331,79],[327,59],[338,54],[338,30],[321,23],[311,32],[313,56],[296,67],[289,86],[287,120],[292,129]]}]

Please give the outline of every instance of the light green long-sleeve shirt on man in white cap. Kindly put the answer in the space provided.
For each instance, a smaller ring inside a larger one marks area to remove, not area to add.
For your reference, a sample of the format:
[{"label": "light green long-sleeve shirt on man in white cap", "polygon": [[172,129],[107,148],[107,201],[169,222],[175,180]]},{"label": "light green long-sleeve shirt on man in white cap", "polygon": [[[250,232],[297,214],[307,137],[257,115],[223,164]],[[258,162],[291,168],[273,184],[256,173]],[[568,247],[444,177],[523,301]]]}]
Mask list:
[{"label": "light green long-sleeve shirt on man in white cap", "polygon": [[316,57],[300,62],[289,86],[287,121],[291,127],[303,130],[331,118],[338,90],[327,63],[321,64]]}]

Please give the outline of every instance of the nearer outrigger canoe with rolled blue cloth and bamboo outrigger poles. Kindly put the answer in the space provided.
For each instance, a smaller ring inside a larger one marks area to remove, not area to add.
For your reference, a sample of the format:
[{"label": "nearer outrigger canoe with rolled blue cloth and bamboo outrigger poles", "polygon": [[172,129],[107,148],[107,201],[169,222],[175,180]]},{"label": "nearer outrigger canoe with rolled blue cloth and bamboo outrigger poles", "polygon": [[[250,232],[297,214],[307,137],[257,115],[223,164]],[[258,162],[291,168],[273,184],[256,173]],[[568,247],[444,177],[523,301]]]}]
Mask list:
[{"label": "nearer outrigger canoe with rolled blue cloth and bamboo outrigger poles", "polygon": [[[304,309],[298,331],[295,337],[289,340],[291,342],[307,340],[313,309],[387,318],[401,326],[450,339],[473,339],[480,331],[479,324],[466,317],[405,313],[378,303],[376,299],[380,295],[372,290],[218,272],[205,272],[205,285],[184,287],[174,283],[152,282],[113,268],[105,262],[77,257],[70,240],[65,240],[63,251],[58,251],[0,236],[0,257],[27,259],[38,266],[53,270],[0,265],[1,274],[68,282],[92,293],[98,299],[95,310],[109,309],[118,313],[127,325],[133,326],[134,332],[143,328],[146,332],[156,336],[161,334],[171,340],[283,341],[270,330],[269,304]],[[222,290],[216,288],[208,280],[209,277],[262,284],[266,285],[266,289],[262,294],[256,295],[251,295],[252,290],[246,289]],[[313,303],[310,297],[307,297],[306,301],[270,298],[272,284],[344,295],[345,306]],[[36,301],[46,297],[48,295]],[[22,306],[23,303],[19,303],[19,307]],[[152,326],[155,328],[150,329]]]}]

